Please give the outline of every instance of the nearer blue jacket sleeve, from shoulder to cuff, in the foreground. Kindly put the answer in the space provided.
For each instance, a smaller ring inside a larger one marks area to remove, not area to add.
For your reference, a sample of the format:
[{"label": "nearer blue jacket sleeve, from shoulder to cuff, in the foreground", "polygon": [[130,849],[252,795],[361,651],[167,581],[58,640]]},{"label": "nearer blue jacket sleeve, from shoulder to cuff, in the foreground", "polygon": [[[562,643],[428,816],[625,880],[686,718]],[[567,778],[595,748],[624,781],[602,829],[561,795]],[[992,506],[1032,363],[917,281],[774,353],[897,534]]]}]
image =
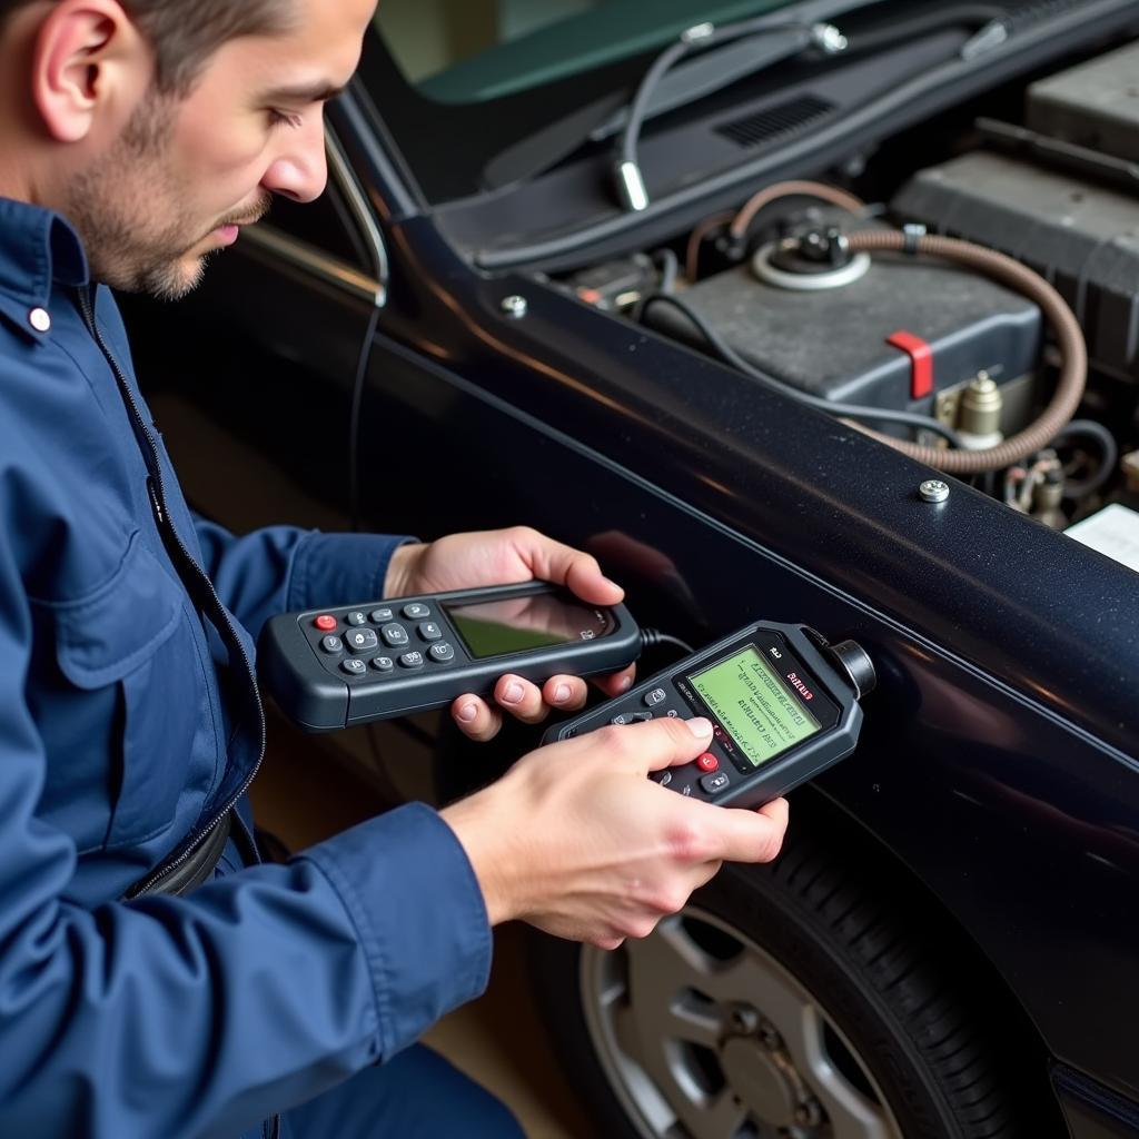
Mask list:
[{"label": "nearer blue jacket sleeve, from shoulder to cuff, in the foreground", "polygon": [[0,1134],[240,1133],[482,991],[482,895],[418,804],[190,898],[68,902],[74,844],[35,813],[30,653],[0,543]]}]

